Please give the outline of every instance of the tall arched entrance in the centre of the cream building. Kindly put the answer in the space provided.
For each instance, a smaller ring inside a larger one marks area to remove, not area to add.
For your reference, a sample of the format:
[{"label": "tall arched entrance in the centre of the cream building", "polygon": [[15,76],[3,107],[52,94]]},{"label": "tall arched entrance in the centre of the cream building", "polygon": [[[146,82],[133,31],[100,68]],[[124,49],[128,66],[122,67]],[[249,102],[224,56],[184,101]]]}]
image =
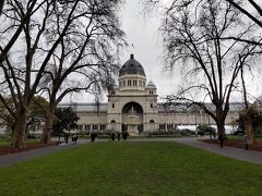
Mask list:
[{"label": "tall arched entrance in the centre of the cream building", "polygon": [[143,132],[143,108],[138,102],[128,102],[122,108],[122,132],[139,135]]}]

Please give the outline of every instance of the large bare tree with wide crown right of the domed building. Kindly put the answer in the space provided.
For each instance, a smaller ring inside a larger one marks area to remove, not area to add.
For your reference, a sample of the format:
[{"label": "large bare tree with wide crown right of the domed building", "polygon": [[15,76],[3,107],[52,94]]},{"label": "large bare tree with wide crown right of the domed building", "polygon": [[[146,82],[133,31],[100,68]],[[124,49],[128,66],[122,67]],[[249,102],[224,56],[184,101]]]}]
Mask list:
[{"label": "large bare tree with wide crown right of the domed building", "polygon": [[[260,52],[257,45],[225,37],[246,39],[252,35],[253,25],[246,25],[240,13],[224,1],[172,2],[166,9],[162,26],[166,69],[182,65],[184,86],[168,100],[201,107],[214,119],[218,134],[224,136],[236,79],[245,63]],[[206,107],[206,98],[215,111]]]}]

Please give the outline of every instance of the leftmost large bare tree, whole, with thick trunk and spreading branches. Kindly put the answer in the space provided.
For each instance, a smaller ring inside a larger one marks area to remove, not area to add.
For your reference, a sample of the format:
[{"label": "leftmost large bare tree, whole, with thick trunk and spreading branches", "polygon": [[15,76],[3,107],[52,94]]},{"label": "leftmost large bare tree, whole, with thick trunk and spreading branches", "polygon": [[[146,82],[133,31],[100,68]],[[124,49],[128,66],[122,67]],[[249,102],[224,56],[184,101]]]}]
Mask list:
[{"label": "leftmost large bare tree, whole, with thick trunk and spreading branches", "polygon": [[[11,9],[7,9],[4,14],[2,14],[9,22],[2,26],[3,35],[8,34],[10,24],[23,21],[22,16],[24,14],[21,13],[24,13],[31,4],[29,0],[22,1],[20,2],[20,8],[16,8],[14,4],[8,2],[7,5]],[[37,1],[39,9],[34,10],[34,14],[31,13],[29,20],[25,21],[24,25],[22,25],[23,36],[20,37],[20,50],[13,50],[9,56],[4,56],[4,62],[0,64],[4,75],[2,84],[9,89],[9,94],[11,94],[15,106],[15,110],[13,111],[4,103],[4,95],[0,94],[1,101],[15,119],[12,146],[24,146],[26,120],[32,99],[39,89],[39,84],[44,79],[43,76],[50,70],[51,58],[59,50],[58,46],[66,37],[69,40],[71,39],[68,36],[70,33],[78,32],[80,28],[78,25],[81,25],[80,22],[84,23],[86,14],[90,14],[88,11],[91,10],[87,9],[90,5],[98,5],[99,3],[118,4],[118,0]],[[64,13],[64,17],[57,17],[61,13]],[[104,13],[100,12],[100,14]],[[61,19],[61,21],[57,22],[57,19]],[[104,21],[102,20],[102,22]],[[58,29],[59,34],[51,34],[53,26],[58,24],[59,28],[55,27],[55,29]]]}]

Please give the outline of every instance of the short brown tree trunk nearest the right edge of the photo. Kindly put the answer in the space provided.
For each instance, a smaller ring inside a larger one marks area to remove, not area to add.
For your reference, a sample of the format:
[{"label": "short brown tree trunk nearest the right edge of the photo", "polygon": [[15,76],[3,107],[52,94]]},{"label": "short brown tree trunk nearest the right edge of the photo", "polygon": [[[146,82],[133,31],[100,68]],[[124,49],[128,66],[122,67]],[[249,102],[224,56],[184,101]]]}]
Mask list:
[{"label": "short brown tree trunk nearest the right edge of the photo", "polygon": [[245,113],[245,131],[248,135],[249,144],[255,144],[254,127],[250,109]]}]

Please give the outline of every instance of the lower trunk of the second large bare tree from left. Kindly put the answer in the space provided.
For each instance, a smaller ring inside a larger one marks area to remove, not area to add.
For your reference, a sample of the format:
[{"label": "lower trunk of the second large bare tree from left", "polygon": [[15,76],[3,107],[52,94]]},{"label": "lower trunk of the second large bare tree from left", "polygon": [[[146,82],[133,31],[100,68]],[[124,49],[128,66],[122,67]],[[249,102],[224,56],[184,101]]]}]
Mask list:
[{"label": "lower trunk of the second large bare tree from left", "polygon": [[51,142],[51,131],[52,131],[52,123],[53,123],[53,114],[55,114],[56,107],[53,103],[49,103],[47,109],[47,114],[45,119],[45,127],[41,135],[41,142],[44,144],[49,144]]}]

